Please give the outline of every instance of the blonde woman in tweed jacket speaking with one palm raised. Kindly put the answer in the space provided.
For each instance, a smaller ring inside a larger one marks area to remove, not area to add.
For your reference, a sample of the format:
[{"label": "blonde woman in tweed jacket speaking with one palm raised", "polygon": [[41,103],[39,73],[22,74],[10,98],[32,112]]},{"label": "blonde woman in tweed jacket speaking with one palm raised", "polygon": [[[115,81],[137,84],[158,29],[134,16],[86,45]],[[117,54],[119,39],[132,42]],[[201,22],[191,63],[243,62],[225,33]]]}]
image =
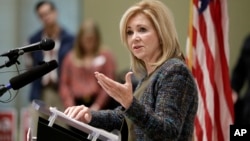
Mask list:
[{"label": "blonde woman in tweed jacket speaking with one palm raised", "polygon": [[122,42],[140,82],[132,92],[131,74],[120,84],[95,72],[99,85],[121,107],[91,111],[73,106],[71,118],[108,131],[128,126],[128,140],[190,141],[198,106],[194,79],[184,62],[170,10],[158,0],[130,7],[120,21]]}]

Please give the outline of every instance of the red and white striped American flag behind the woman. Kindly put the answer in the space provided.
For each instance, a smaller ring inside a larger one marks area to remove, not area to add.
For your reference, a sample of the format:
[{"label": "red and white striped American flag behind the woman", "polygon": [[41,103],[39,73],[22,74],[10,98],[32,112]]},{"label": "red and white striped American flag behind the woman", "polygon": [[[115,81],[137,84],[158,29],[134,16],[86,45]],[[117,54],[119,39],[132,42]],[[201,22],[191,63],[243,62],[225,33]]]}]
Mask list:
[{"label": "red and white striped American flag behind the woman", "polygon": [[191,0],[187,64],[198,87],[196,141],[228,141],[233,123],[227,0]]}]

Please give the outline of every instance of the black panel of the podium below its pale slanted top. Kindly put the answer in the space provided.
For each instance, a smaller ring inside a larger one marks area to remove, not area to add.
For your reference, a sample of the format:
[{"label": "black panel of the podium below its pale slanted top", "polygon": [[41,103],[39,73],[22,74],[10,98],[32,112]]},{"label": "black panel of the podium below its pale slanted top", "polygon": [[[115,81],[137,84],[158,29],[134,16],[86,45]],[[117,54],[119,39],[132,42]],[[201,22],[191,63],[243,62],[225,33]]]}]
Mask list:
[{"label": "black panel of the podium below its pale slanted top", "polygon": [[57,124],[49,127],[48,123],[47,120],[39,117],[37,141],[89,141],[84,132],[67,130]]}]

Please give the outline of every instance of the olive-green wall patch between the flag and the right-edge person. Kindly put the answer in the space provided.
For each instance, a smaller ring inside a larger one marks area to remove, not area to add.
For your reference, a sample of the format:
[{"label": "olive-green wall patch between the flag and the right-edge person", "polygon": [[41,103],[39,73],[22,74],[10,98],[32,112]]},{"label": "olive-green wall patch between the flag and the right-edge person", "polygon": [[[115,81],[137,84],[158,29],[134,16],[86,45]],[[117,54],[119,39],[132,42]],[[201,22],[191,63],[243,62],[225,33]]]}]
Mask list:
[{"label": "olive-green wall patch between the flag and the right-edge person", "polygon": [[235,66],[246,36],[250,34],[249,0],[229,0],[230,71]]}]

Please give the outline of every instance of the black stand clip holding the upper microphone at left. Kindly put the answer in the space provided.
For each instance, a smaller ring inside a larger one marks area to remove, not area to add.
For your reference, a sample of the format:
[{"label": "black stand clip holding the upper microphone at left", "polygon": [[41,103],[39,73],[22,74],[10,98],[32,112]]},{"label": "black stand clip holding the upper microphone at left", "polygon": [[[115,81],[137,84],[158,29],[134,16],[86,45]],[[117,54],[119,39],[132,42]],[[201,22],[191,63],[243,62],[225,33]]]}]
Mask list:
[{"label": "black stand clip holding the upper microphone at left", "polygon": [[20,64],[20,62],[17,60],[20,55],[23,55],[23,50],[12,50],[11,53],[8,55],[9,61],[6,61],[5,64],[0,65],[0,69],[4,67],[10,67],[14,64]]}]

